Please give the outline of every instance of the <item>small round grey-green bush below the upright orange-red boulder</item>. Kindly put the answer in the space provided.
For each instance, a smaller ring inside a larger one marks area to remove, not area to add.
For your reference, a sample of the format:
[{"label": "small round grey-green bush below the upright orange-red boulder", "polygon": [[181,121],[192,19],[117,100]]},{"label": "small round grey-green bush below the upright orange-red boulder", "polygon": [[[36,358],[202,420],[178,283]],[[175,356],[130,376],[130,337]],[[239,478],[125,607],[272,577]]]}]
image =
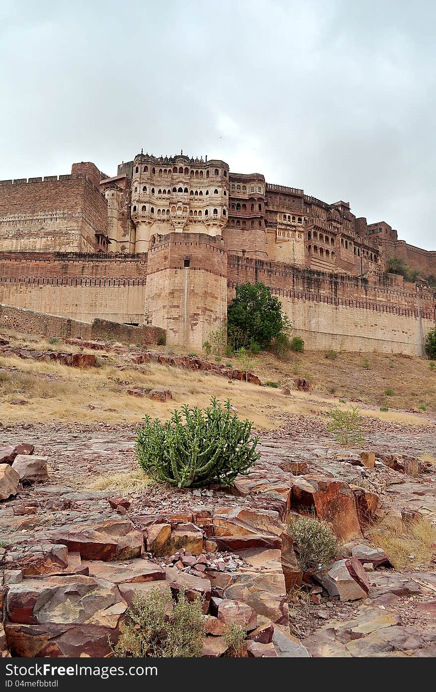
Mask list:
[{"label": "small round grey-green bush below the upright orange-red boulder", "polygon": [[290,533],[298,549],[301,569],[304,572],[320,570],[330,565],[339,553],[339,543],[332,529],[314,517],[298,517],[292,520]]}]

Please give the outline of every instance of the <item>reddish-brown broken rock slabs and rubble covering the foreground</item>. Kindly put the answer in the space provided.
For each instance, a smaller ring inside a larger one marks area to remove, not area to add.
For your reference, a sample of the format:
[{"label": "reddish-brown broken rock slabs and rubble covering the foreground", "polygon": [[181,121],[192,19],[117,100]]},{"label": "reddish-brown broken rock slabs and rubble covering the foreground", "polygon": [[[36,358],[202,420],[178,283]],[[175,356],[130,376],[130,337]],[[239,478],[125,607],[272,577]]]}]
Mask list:
[{"label": "reddish-brown broken rock slabs and rubble covering the foreground", "polygon": [[[319,425],[292,417],[262,435],[253,472],[231,489],[146,493],[86,490],[102,470],[129,473],[133,428],[3,429],[1,655],[110,655],[108,637],[151,588],[202,598],[205,657],[225,655],[235,622],[248,657],[435,655],[436,574],[396,572],[364,538],[375,521],[401,530],[435,516],[436,471],[418,460],[436,452],[434,430],[394,427],[387,440],[374,424],[350,452]],[[301,513],[329,522],[342,544],[312,574],[292,541]]]}]

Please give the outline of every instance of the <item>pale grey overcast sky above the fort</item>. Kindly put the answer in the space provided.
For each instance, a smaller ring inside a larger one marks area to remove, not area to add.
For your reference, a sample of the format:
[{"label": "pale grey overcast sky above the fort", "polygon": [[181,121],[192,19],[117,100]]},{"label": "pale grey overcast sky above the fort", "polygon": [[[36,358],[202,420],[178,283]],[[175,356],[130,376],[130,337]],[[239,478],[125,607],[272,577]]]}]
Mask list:
[{"label": "pale grey overcast sky above the fort", "polygon": [[183,149],[436,249],[435,26],[423,0],[0,0],[0,179]]}]

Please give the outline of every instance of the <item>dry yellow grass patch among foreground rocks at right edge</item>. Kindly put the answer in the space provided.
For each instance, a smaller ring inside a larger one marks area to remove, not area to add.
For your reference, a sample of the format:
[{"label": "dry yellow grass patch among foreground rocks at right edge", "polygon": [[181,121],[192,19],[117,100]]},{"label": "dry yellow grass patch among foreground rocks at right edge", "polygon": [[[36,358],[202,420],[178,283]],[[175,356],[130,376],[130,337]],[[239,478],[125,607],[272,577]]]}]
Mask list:
[{"label": "dry yellow grass patch among foreground rocks at right edge", "polygon": [[408,522],[404,534],[377,533],[376,526],[368,537],[376,547],[383,548],[396,570],[428,567],[435,556],[436,527],[423,516]]}]

